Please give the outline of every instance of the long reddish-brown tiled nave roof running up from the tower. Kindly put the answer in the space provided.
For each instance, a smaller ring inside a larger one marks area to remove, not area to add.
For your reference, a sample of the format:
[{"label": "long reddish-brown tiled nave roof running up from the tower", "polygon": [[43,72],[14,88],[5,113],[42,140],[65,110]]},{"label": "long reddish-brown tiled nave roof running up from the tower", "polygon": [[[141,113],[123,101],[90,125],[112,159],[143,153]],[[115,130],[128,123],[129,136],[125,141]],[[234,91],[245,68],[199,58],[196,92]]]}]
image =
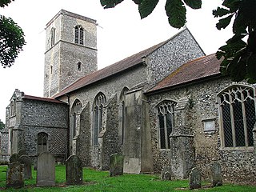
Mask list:
[{"label": "long reddish-brown tiled nave roof running up from the tower", "polygon": [[[184,28],[184,30],[188,30],[187,28]],[[178,34],[181,34],[184,30],[181,30]],[[172,38],[169,38],[165,42],[158,43],[155,46],[151,46],[150,48],[146,50],[142,50],[138,54],[134,54],[128,58],[122,59],[119,62],[115,62],[114,64],[110,66],[106,66],[105,68],[101,70],[97,70],[94,73],[87,74],[83,78],[79,78],[78,81],[74,82],[70,86],[67,86],[64,88],[61,92],[54,95],[54,98],[61,97],[62,95],[69,94],[70,92],[74,90],[81,89],[84,86],[88,86],[94,82],[101,81],[105,78],[110,78],[112,75],[119,74],[125,70],[128,70],[134,66],[139,66],[144,63],[144,58],[148,56],[149,54],[153,53],[154,50],[157,50],[159,47],[165,45],[167,42],[169,42],[171,39],[178,36],[178,34],[175,34]]]}]

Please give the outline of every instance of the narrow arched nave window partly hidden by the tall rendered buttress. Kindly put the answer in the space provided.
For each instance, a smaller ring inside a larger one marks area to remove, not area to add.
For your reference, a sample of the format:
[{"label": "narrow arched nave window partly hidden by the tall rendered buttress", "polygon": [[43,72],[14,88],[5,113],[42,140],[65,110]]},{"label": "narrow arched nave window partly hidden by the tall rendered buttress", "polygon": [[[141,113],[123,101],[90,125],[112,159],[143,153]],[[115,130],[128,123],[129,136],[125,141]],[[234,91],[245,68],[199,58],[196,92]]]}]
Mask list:
[{"label": "narrow arched nave window partly hidden by the tall rendered buttress", "polygon": [[124,87],[120,94],[120,106],[119,106],[119,125],[121,126],[121,144],[123,144],[125,133],[125,94],[129,89]]}]

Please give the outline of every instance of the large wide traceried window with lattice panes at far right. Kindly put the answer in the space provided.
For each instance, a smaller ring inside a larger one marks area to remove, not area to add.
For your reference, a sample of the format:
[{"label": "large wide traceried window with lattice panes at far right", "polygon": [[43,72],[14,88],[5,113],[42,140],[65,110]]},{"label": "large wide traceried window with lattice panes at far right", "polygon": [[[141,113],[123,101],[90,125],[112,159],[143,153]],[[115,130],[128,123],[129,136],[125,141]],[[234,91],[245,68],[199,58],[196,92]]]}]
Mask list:
[{"label": "large wide traceried window with lattice panes at far right", "polygon": [[255,90],[231,86],[218,94],[223,147],[254,146]]}]

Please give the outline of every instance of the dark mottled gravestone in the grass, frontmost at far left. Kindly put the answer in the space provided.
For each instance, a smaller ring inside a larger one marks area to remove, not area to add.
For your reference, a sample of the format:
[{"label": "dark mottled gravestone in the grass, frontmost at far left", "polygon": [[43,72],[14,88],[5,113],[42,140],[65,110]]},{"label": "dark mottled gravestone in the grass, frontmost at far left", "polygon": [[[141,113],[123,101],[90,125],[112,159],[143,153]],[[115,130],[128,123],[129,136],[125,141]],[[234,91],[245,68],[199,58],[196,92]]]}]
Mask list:
[{"label": "dark mottled gravestone in the grass, frontmost at far left", "polygon": [[20,162],[12,162],[8,165],[6,171],[6,187],[24,186],[24,166]]}]

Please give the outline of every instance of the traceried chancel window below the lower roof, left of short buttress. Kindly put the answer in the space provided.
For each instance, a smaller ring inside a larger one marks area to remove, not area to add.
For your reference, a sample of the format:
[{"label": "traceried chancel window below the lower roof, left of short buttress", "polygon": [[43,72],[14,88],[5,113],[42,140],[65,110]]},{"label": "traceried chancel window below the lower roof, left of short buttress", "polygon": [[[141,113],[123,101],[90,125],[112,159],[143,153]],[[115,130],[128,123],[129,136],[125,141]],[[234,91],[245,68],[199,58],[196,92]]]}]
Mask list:
[{"label": "traceried chancel window below the lower roof, left of short buttress", "polygon": [[161,149],[170,149],[170,134],[174,127],[174,106],[176,102],[163,101],[157,106],[158,133]]}]

